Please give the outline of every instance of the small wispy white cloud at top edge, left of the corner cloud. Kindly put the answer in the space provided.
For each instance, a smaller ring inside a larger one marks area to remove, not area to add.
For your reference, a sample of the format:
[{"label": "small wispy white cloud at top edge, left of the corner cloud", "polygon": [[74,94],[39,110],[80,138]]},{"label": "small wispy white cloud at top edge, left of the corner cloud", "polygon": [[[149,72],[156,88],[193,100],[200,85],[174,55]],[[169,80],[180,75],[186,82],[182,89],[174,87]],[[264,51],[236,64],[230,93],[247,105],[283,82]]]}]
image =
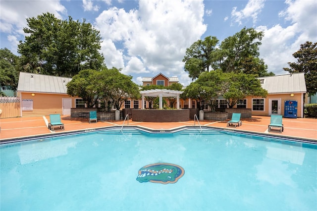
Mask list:
[{"label": "small wispy white cloud at top edge, left of the corner cloud", "polygon": [[237,7],[234,7],[231,11],[231,16],[235,22],[242,24],[243,19],[252,18],[253,23],[257,22],[258,14],[264,7],[264,0],[249,0],[246,7],[237,11]]}]

